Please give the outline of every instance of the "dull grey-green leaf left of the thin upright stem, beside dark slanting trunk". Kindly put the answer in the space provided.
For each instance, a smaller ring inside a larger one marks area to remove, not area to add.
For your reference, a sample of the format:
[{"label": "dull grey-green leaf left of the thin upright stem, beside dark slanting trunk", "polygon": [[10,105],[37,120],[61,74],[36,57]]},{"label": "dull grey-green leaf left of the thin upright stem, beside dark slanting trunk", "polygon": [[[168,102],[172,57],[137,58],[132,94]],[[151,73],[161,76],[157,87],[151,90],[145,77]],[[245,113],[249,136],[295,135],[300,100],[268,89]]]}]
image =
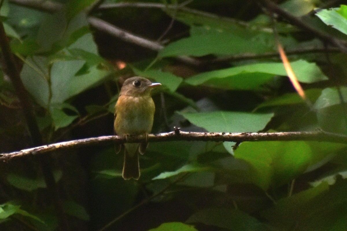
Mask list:
[{"label": "dull grey-green leaf left of the thin upright stem, beside dark slanting trunk", "polygon": [[50,94],[47,59],[43,56],[28,57],[20,72],[20,78],[36,102],[47,108]]}]

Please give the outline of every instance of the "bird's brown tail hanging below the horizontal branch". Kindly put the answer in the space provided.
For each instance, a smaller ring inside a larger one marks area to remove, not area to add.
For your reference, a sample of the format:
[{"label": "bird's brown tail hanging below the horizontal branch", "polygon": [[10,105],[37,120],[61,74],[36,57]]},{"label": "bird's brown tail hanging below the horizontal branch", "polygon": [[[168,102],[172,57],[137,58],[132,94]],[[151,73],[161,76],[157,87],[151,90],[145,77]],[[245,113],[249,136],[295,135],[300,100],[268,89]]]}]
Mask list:
[{"label": "bird's brown tail hanging below the horizontal branch", "polygon": [[122,176],[125,180],[140,177],[140,166],[138,158],[138,144],[126,144],[124,153],[124,166]]}]

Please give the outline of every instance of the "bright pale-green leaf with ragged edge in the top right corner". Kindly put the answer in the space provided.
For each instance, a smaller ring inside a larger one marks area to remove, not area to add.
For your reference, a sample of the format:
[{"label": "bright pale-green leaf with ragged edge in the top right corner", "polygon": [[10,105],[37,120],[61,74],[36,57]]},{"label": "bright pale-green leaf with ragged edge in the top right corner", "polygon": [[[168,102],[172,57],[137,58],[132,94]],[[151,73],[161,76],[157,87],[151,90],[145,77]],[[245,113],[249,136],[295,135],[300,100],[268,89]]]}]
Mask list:
[{"label": "bright pale-green leaf with ragged edge in the top right corner", "polygon": [[346,8],[346,5],[341,5],[340,8],[320,10],[316,13],[316,16],[318,16],[328,26],[332,26],[347,35]]}]

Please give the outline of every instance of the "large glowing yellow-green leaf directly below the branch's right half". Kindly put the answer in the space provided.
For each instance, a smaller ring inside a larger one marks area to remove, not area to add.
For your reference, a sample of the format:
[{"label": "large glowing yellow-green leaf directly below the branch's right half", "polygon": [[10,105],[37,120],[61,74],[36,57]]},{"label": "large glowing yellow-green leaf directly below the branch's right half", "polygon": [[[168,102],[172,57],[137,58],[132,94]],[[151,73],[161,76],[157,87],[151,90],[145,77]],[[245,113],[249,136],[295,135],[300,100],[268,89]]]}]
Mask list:
[{"label": "large glowing yellow-green leaf directly below the branch's right half", "polygon": [[305,141],[243,142],[234,151],[235,158],[251,165],[251,181],[264,190],[283,185],[305,171],[325,163],[344,144]]}]

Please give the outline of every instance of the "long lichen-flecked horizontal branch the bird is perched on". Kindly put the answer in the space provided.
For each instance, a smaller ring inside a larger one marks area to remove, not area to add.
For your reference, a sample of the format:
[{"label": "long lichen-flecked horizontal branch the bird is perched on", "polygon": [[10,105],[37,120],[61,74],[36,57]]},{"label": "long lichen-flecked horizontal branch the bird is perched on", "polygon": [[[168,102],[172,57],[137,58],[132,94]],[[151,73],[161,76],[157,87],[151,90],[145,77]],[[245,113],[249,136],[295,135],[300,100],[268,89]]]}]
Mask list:
[{"label": "long lichen-flecked horizontal branch the bird is perched on", "polygon": [[[17,157],[26,155],[43,154],[61,149],[68,148],[81,148],[87,145],[111,145],[122,143],[139,143],[146,140],[145,135],[136,136],[99,136],[80,140],[71,140],[60,143],[43,145],[35,148],[25,149],[17,152],[2,153],[0,160],[10,160]],[[231,141],[231,142],[244,142],[244,141],[325,141],[333,143],[346,143],[347,136],[341,134],[327,133],[323,131],[316,132],[274,132],[274,133],[207,133],[207,132],[182,132],[178,129],[175,132],[148,134],[148,142],[163,142],[163,141]]]}]

